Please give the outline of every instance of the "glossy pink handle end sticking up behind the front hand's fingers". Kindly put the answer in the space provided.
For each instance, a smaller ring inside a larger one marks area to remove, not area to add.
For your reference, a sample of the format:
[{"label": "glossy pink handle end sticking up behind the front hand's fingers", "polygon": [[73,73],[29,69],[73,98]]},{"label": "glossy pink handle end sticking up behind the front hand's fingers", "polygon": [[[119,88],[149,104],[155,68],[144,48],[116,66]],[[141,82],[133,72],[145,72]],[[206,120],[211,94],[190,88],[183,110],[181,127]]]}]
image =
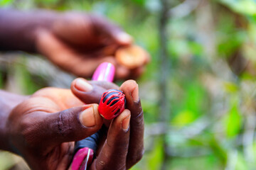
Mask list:
[{"label": "glossy pink handle end sticking up behind the front hand's fingers", "polygon": [[110,81],[114,80],[114,65],[110,62],[103,62],[95,70],[92,80]]}]

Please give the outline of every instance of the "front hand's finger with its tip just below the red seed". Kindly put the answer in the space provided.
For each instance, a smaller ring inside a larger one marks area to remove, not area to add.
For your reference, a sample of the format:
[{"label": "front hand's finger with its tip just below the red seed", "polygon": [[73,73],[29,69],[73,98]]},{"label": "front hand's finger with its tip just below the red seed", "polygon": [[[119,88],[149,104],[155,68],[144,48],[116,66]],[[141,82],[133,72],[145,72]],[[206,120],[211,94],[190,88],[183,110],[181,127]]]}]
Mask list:
[{"label": "front hand's finger with its tip just below the red seed", "polygon": [[112,121],[107,140],[90,169],[125,169],[130,118],[130,111],[126,109]]}]

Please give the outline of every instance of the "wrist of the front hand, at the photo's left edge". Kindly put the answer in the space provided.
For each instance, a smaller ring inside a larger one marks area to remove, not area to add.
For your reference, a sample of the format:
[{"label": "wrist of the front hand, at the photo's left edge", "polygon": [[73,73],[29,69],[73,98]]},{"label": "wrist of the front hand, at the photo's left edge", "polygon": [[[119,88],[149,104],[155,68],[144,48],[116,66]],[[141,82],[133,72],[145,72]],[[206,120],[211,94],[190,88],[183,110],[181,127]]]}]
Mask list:
[{"label": "wrist of the front hand, at the photo's left edge", "polygon": [[28,97],[0,90],[0,149],[11,151],[8,140],[8,129],[6,129],[7,119],[12,109],[26,98]]}]

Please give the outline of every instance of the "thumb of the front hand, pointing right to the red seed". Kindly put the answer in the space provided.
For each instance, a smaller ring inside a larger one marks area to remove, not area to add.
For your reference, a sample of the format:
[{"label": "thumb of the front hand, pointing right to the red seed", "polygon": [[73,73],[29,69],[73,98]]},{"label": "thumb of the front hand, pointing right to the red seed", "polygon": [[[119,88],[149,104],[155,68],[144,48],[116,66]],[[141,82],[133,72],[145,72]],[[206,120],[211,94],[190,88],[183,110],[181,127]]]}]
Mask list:
[{"label": "thumb of the front hand, pointing right to the red seed", "polygon": [[43,127],[48,128],[42,130],[45,133],[44,139],[58,145],[94,134],[102,127],[103,120],[98,113],[98,105],[91,104],[48,114],[43,122],[47,124]]}]

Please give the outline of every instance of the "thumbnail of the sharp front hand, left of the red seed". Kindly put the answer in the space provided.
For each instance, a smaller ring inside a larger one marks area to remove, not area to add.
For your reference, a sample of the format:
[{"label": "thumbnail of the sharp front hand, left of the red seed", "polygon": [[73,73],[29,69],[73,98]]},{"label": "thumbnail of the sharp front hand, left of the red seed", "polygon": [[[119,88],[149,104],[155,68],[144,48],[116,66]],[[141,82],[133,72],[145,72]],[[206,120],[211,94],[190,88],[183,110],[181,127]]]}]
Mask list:
[{"label": "thumbnail of the sharp front hand, left of the red seed", "polygon": [[90,108],[86,108],[85,111],[82,111],[79,116],[82,125],[84,125],[85,127],[95,126],[96,122],[94,113],[95,109],[93,108],[93,106],[90,106]]}]

